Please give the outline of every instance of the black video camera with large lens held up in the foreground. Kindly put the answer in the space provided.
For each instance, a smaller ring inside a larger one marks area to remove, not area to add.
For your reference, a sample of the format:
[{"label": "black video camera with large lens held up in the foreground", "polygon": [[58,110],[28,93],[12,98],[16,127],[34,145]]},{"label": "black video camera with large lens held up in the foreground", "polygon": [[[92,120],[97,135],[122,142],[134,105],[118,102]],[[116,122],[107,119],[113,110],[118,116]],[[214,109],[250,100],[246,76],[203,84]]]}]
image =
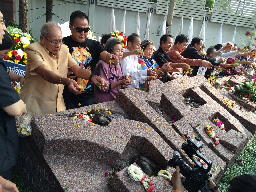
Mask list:
[{"label": "black video camera with large lens held up in the foreground", "polygon": [[[180,173],[186,178],[182,178],[181,182],[183,186],[189,192],[210,192],[209,187],[209,178],[212,177],[212,174],[209,171],[212,168],[212,162],[207,159],[200,151],[203,147],[200,142],[201,139],[198,137],[188,137],[187,141],[182,144],[182,149],[188,155],[188,157],[195,163],[195,166],[191,168],[180,156],[178,151],[173,152],[172,159],[169,160],[168,165],[175,168],[176,166],[180,167]],[[208,167],[202,165],[197,159],[194,158],[194,155],[201,158]]]}]

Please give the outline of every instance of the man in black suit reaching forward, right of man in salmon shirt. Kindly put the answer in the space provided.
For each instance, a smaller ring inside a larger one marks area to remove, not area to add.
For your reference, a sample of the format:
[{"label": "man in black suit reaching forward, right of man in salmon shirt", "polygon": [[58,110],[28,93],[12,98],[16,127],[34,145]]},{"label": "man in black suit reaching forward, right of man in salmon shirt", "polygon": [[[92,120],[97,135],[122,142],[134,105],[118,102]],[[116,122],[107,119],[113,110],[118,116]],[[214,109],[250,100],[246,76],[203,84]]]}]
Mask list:
[{"label": "man in black suit reaching forward, right of man in salmon shirt", "polygon": [[[207,58],[205,56],[202,56],[198,53],[200,49],[202,49],[203,40],[199,37],[194,37],[191,41],[191,43],[188,45],[188,47],[185,49],[184,52],[181,53],[183,57],[190,58],[190,59],[202,59],[209,61],[213,66],[218,65],[218,61],[225,62],[225,58],[219,57],[219,58]],[[191,66],[193,69],[192,76],[196,76],[198,69],[200,66]],[[214,68],[214,67],[212,67]],[[213,69],[212,69],[213,70]]]}]

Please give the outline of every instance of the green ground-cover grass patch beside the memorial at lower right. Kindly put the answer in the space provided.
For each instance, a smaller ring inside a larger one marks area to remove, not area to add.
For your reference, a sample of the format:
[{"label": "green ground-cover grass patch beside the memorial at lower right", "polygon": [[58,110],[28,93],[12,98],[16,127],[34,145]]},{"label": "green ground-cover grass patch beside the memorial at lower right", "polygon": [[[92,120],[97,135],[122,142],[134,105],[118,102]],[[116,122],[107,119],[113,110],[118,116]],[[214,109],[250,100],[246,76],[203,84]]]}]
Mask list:
[{"label": "green ground-cover grass patch beside the memorial at lower right", "polygon": [[[243,160],[239,162],[238,159]],[[234,177],[243,174],[255,174],[256,172],[256,137],[249,143],[244,151],[236,158],[234,164],[224,172],[221,182],[218,184],[221,192],[228,192],[228,182]]]}]

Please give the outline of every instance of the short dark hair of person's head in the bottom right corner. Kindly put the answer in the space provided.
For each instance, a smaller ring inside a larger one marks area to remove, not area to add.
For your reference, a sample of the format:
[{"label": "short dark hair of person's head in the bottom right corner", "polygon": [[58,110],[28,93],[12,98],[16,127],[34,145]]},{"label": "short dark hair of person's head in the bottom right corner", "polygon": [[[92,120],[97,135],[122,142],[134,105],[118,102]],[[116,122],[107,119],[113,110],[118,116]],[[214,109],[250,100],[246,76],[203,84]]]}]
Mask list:
[{"label": "short dark hair of person's head in the bottom right corner", "polygon": [[229,192],[239,191],[255,191],[256,189],[256,175],[244,174],[234,177],[228,183]]}]

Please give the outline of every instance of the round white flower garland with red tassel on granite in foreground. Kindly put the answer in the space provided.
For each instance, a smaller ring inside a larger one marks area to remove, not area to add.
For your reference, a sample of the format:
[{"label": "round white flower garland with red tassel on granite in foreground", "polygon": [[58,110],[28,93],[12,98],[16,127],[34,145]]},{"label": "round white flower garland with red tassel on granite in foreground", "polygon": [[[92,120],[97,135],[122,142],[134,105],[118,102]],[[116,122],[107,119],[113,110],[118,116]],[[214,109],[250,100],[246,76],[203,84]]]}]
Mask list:
[{"label": "round white flower garland with red tassel on granite in foreground", "polygon": [[143,177],[143,173],[140,168],[136,167],[135,165],[130,165],[127,169],[127,173],[132,180],[142,183],[143,187],[147,190],[147,192],[151,192],[154,190],[154,183],[148,178]]}]

